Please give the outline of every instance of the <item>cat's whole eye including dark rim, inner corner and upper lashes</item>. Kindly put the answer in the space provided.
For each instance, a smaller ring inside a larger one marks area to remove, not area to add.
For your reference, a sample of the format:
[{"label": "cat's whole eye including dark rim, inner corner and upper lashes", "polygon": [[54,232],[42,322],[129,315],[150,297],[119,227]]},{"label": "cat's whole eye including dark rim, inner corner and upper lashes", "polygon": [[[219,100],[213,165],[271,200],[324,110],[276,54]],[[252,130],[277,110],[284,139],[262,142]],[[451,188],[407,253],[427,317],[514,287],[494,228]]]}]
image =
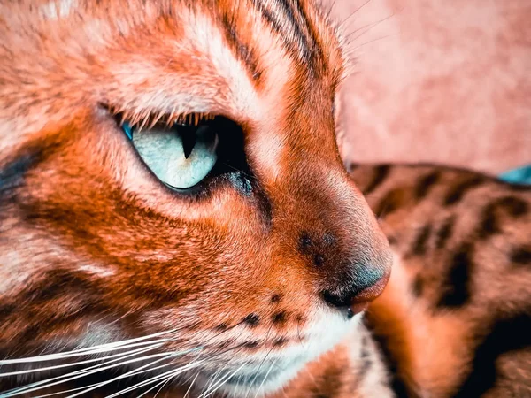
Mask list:
[{"label": "cat's whole eye including dark rim, inner corner and upper lashes", "polygon": [[208,197],[230,185],[250,195],[254,174],[242,126],[221,115],[148,113],[138,118],[104,105],[150,172],[179,195]]}]

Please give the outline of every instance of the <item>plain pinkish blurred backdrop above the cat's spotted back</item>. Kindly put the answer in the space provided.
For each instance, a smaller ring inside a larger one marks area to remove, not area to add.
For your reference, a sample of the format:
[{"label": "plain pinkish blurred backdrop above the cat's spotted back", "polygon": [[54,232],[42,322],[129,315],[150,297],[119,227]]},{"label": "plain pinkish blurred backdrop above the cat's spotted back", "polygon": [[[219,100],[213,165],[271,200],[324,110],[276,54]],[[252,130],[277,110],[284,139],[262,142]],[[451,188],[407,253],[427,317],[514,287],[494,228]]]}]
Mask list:
[{"label": "plain pinkish blurred backdrop above the cat's spotted back", "polygon": [[530,0],[323,0],[349,39],[345,158],[531,164]]}]

